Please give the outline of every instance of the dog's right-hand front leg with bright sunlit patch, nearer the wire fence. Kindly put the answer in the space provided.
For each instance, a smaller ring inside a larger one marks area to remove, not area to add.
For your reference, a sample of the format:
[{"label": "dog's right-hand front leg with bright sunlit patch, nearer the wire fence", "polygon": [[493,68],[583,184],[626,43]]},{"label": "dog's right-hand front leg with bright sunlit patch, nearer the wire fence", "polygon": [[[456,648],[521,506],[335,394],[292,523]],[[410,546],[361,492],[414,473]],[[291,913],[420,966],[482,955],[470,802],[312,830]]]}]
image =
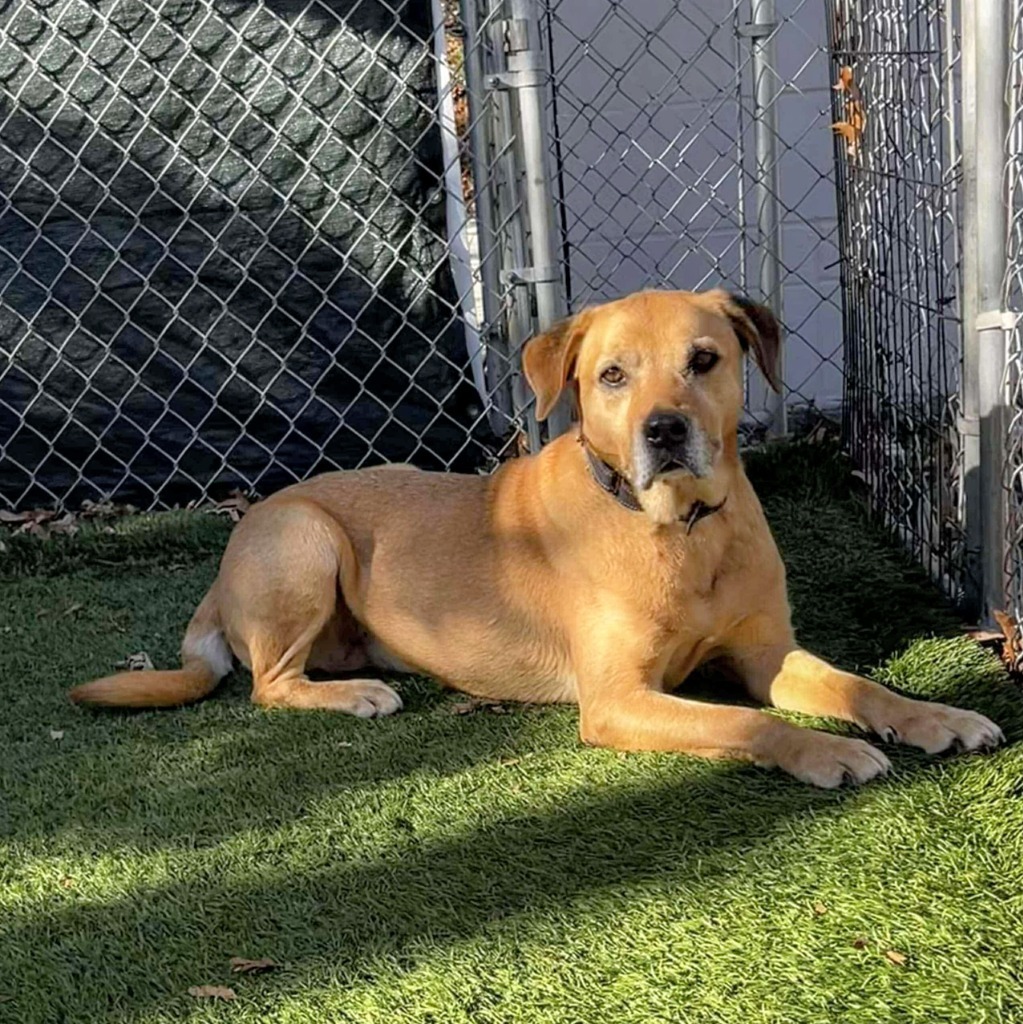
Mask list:
[{"label": "dog's right-hand front leg with bright sunlit patch, nearer the wire fence", "polygon": [[997,746],[1001,730],[973,711],[914,700],[842,672],[793,642],[740,647],[729,662],[758,700],[785,711],[839,718],[929,754]]}]

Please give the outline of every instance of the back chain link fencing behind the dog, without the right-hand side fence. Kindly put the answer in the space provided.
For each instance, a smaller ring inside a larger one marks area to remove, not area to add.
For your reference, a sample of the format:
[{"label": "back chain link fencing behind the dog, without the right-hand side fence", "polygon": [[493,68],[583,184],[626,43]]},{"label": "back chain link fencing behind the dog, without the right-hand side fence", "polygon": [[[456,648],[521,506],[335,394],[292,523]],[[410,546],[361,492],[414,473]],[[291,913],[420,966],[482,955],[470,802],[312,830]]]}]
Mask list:
[{"label": "back chain link fencing behind the dog, without the right-hand side fence", "polygon": [[648,6],[4,4],[4,503],[484,468],[521,343],[647,285],[783,315],[752,427],[837,409],[819,13]]}]

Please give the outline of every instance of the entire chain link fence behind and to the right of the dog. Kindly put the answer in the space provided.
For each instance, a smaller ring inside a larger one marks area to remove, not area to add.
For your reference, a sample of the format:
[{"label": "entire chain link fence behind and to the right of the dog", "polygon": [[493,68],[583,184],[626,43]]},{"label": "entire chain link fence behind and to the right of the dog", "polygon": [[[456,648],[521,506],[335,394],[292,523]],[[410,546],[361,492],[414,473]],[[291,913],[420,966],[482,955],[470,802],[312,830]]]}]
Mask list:
[{"label": "entire chain link fence behind and to the right of the dog", "polygon": [[1019,614],[1023,14],[978,2],[1008,225],[956,0],[0,2],[0,503],[485,471],[545,438],[530,335],[723,285],[786,335],[748,437],[840,421],[932,577]]}]

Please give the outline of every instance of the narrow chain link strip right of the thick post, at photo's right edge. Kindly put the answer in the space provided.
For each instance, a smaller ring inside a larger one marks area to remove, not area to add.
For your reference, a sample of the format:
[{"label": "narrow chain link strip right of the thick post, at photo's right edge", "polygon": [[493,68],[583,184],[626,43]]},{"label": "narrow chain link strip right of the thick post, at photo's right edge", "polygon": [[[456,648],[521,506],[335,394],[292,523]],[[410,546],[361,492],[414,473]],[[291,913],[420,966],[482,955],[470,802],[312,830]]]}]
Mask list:
[{"label": "narrow chain link strip right of the thick post, at photo's right edge", "polygon": [[[1011,5],[1008,194],[1009,245],[1005,308],[1016,313],[1007,359],[1008,434],[1006,438],[1007,610],[1023,636],[1023,2]],[[1017,668],[1023,670],[1023,651]]]}]

